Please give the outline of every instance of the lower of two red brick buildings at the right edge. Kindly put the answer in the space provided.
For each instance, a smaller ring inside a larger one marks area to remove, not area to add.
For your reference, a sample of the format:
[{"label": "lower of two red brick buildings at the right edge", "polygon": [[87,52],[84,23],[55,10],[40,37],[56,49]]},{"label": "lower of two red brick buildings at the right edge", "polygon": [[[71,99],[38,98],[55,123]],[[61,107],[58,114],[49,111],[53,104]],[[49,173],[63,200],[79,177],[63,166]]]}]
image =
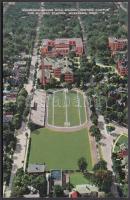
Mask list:
[{"label": "lower of two red brick buildings at the right edge", "polygon": [[121,76],[128,75],[128,61],[127,60],[119,60],[116,65],[116,69]]}]

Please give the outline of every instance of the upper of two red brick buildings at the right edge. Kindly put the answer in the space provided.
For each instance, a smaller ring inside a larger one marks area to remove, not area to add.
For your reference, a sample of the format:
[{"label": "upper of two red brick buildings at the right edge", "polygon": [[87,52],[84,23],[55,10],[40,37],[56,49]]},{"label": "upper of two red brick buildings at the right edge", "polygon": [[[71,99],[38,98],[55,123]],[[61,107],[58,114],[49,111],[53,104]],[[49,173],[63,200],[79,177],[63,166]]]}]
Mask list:
[{"label": "upper of two red brick buildings at the right edge", "polygon": [[117,39],[114,37],[108,38],[108,46],[111,49],[112,54],[115,54],[116,51],[124,50],[127,44],[128,44],[127,39]]}]

